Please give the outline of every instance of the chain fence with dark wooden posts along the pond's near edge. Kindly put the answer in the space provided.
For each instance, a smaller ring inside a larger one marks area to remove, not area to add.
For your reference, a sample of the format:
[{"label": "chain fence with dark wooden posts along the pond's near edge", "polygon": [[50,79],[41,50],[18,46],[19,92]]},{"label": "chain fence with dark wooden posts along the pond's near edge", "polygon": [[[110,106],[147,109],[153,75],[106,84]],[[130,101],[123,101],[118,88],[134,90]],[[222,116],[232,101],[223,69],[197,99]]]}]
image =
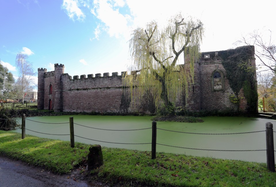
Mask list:
[{"label": "chain fence with dark wooden posts along the pond's near edge", "polygon": [[[1,119],[1,118],[0,118]],[[31,129],[27,129],[25,127],[25,119],[29,120],[29,121],[33,121],[36,123],[44,123],[44,124],[70,124],[70,134],[52,134],[52,133],[43,133],[43,132],[38,132],[38,131],[34,131]],[[102,140],[94,140],[91,138],[86,138],[86,137],[82,137],[82,136],[78,136],[74,134],[74,124],[78,125],[78,126],[82,126],[82,127],[86,127],[86,128],[91,128],[91,129],[97,129],[97,130],[105,130],[105,131],[138,131],[138,130],[147,130],[147,129],[152,129],[152,142],[150,143],[122,143],[122,142],[108,142],[108,141],[102,141]],[[2,127],[3,128],[3,127]],[[268,128],[270,130],[268,130]],[[5,128],[8,129],[8,128]],[[275,133],[276,131],[273,131],[272,128],[272,123],[266,123],[266,130],[262,130],[262,131],[250,131],[250,132],[238,132],[238,133],[194,133],[194,132],[183,132],[183,131],[173,131],[173,130],[168,130],[168,129],[161,129],[161,128],[157,128],[156,127],[156,122],[153,121],[152,122],[152,128],[142,128],[142,129],[101,129],[101,128],[96,128],[96,127],[89,127],[86,125],[81,125],[78,123],[74,123],[73,122],[73,117],[70,117],[70,122],[64,122],[64,123],[47,123],[47,122],[41,122],[41,121],[34,121],[31,119],[27,119],[25,117],[25,115],[23,115],[22,117],[22,128],[16,128],[16,129],[22,129],[22,139],[24,139],[25,137],[25,129],[28,131],[32,131],[32,132],[36,132],[36,133],[41,133],[41,134],[46,134],[46,135],[55,135],[55,136],[69,136],[70,135],[70,141],[71,141],[71,147],[74,147],[74,137],[78,137],[78,138],[83,138],[83,139],[87,139],[87,140],[91,140],[91,141],[96,141],[96,142],[104,142],[104,143],[110,143],[110,144],[130,144],[130,145],[144,145],[144,144],[152,144],[152,159],[156,158],[156,145],[160,145],[160,146],[167,146],[167,147],[174,147],[174,148],[182,148],[182,149],[191,149],[191,150],[204,150],[204,151],[267,151],[267,159],[270,161],[273,160],[274,162],[274,152],[276,152],[276,150],[274,150],[274,146],[273,146],[273,133]],[[174,132],[174,133],[186,133],[186,134],[196,134],[196,135],[234,135],[234,134],[248,134],[248,133],[260,133],[260,132],[265,132],[266,131],[266,136],[267,136],[267,141],[271,141],[272,142],[267,142],[267,145],[270,144],[270,146],[267,146],[267,149],[255,149],[255,150],[218,150],[218,149],[202,149],[202,148],[190,148],[190,147],[181,147],[181,146],[173,146],[173,145],[167,145],[167,144],[160,144],[156,142],[156,134],[157,134],[157,129],[161,130],[161,131],[170,131],[170,132]],[[269,133],[270,135],[268,135]],[[24,133],[24,136],[23,136]],[[268,136],[271,136],[268,138]],[[73,143],[72,143],[73,142]],[[271,155],[268,155],[268,152],[272,152],[270,153]],[[155,154],[155,156],[154,156]],[[272,162],[272,161],[271,161]],[[275,163],[274,163],[274,169],[275,169]]]}]

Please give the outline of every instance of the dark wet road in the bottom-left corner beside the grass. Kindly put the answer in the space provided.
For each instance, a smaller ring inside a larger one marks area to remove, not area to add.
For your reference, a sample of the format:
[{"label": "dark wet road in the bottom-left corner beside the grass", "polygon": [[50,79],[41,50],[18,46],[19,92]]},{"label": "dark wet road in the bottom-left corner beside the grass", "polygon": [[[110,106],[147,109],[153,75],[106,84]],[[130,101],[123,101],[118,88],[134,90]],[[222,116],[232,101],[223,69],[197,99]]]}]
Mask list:
[{"label": "dark wet road in the bottom-left corner beside the grass", "polygon": [[22,161],[14,161],[0,156],[0,187],[108,187],[99,182],[88,182],[79,171],[57,175],[43,168],[30,166]]}]

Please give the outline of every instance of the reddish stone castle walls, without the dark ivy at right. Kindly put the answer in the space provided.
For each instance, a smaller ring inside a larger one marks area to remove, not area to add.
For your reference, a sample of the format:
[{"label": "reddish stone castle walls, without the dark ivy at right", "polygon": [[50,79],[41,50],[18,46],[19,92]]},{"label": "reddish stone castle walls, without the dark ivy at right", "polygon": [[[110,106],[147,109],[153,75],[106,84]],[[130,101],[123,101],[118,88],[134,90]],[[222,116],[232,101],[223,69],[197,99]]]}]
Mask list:
[{"label": "reddish stone castle walls, without the dark ivy at right", "polygon": [[[202,58],[194,64],[194,81],[189,84],[188,95],[178,96],[176,106],[189,110],[223,110],[234,108],[229,100],[233,94],[227,73],[222,65],[218,52],[202,53]],[[254,61],[255,63],[255,61]],[[189,58],[183,65],[189,71]],[[122,75],[117,72],[74,76],[73,79],[64,73],[64,65],[55,64],[55,71],[39,68],[38,108],[49,109],[49,100],[55,111],[64,112],[114,112],[114,113],[153,113],[152,96],[143,96],[142,100],[130,100],[129,88],[123,87]],[[221,77],[213,78],[218,72]],[[126,72],[121,72],[124,74]],[[53,93],[49,94],[50,84]],[[135,89],[133,89],[135,92]],[[239,93],[243,96],[243,90]],[[134,97],[133,97],[134,98]],[[42,102],[43,100],[43,102]],[[246,111],[247,102],[244,97],[240,101],[240,110]]]}]

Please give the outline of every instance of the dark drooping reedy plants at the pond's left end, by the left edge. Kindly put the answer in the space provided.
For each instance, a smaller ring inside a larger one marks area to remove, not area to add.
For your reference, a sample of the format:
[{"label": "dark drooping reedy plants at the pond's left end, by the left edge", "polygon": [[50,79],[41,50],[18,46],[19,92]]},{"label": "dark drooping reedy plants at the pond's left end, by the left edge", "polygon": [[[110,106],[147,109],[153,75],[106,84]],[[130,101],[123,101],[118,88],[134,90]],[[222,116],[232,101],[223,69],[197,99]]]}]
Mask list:
[{"label": "dark drooping reedy plants at the pond's left end, by the left edge", "polygon": [[16,119],[6,108],[0,108],[0,130],[14,130],[17,127]]}]

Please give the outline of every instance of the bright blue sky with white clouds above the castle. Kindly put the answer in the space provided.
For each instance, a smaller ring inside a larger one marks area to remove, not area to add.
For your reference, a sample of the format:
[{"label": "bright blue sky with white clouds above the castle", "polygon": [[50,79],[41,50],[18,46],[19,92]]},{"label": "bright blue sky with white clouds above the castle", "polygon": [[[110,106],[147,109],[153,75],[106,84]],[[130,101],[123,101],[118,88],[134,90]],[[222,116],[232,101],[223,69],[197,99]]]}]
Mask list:
[{"label": "bright blue sky with white clouds above the castle", "polygon": [[160,2],[0,0],[1,62],[16,76],[15,59],[21,51],[29,55],[35,71],[51,71],[53,64],[61,63],[71,76],[104,72],[120,75],[131,65],[131,31],[151,20],[163,24],[178,11],[203,22],[201,51],[233,48],[242,35],[256,29],[275,31],[270,1],[258,5],[252,1]]}]

